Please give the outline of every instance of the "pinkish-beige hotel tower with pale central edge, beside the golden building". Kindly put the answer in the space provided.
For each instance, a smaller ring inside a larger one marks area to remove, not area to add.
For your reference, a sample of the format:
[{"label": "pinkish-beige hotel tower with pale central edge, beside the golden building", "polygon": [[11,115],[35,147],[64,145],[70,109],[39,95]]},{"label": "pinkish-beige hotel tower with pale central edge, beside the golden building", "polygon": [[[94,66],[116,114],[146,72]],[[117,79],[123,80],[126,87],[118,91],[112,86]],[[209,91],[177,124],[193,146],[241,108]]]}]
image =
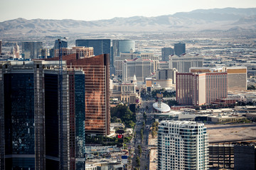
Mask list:
[{"label": "pinkish-beige hotel tower with pale central edge, beside the golden building", "polygon": [[226,72],[177,73],[176,101],[181,105],[201,106],[228,97]]}]

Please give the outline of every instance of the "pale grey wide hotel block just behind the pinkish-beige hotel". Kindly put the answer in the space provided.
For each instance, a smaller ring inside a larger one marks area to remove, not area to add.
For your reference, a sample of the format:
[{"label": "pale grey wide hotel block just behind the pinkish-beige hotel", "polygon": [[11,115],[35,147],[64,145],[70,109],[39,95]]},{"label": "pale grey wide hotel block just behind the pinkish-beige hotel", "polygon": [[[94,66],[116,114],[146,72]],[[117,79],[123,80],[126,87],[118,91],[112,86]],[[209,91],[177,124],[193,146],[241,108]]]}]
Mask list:
[{"label": "pale grey wide hotel block just behind the pinkish-beige hotel", "polygon": [[203,67],[201,55],[173,55],[170,57],[169,68],[178,69],[178,72],[189,72],[190,67]]}]

